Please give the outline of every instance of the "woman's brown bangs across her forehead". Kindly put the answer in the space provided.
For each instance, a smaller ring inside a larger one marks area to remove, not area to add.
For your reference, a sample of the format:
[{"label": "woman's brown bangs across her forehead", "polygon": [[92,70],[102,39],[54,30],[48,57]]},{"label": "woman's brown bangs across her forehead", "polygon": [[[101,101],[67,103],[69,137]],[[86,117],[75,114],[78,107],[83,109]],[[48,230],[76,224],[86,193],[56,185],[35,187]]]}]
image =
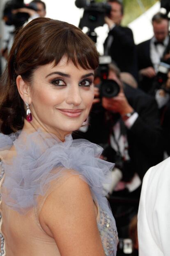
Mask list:
[{"label": "woman's brown bangs across her forehead", "polygon": [[[75,29],[75,28],[74,28]],[[67,61],[72,61],[76,67],[81,66],[84,69],[96,69],[99,66],[99,54],[96,51],[94,42],[82,31],[74,33],[71,29],[57,32],[57,35],[51,36],[44,42],[44,51],[42,51],[41,64],[55,62],[55,66],[60,62],[63,56],[67,56]],[[57,38],[57,40],[56,40]],[[49,42],[48,42],[49,41]]]}]

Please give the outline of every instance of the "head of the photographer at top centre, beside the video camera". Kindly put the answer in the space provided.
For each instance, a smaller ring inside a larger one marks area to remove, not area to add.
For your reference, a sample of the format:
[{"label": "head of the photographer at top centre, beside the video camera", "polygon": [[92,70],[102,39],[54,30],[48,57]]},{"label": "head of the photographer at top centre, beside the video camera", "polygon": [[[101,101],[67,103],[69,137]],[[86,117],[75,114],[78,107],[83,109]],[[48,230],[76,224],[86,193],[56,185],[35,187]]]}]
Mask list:
[{"label": "head of the photographer at top centre, beside the video camera", "polygon": [[123,18],[123,13],[124,13],[124,8],[123,8],[122,2],[119,0],[108,0],[108,3],[112,7],[109,18],[116,25],[120,25],[122,18]]}]

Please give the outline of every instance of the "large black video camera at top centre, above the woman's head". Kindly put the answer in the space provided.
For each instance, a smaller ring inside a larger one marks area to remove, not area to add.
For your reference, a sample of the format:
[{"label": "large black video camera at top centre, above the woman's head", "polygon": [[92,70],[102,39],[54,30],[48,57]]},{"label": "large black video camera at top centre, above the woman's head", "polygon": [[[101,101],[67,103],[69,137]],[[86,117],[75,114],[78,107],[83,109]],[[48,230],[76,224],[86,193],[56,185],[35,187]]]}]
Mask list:
[{"label": "large black video camera at top centre, above the woman's head", "polygon": [[95,0],[76,0],[75,5],[78,8],[84,8],[79,28],[89,28],[87,35],[96,42],[94,29],[104,25],[104,18],[110,14],[111,6],[106,2],[95,2]]}]

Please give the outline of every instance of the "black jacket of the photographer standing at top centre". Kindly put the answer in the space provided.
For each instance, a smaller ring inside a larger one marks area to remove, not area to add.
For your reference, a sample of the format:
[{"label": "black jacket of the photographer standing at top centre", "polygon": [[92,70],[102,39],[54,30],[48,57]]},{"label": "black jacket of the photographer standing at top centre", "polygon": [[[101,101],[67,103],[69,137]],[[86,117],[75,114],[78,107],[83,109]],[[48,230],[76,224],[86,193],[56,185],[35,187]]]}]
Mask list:
[{"label": "black jacket of the photographer standing at top centre", "polygon": [[[122,72],[131,73],[138,79],[136,45],[133,40],[133,33],[130,28],[115,26],[109,31],[108,37],[113,36],[108,54],[117,64]],[[108,42],[108,37],[104,42],[104,48]]]}]

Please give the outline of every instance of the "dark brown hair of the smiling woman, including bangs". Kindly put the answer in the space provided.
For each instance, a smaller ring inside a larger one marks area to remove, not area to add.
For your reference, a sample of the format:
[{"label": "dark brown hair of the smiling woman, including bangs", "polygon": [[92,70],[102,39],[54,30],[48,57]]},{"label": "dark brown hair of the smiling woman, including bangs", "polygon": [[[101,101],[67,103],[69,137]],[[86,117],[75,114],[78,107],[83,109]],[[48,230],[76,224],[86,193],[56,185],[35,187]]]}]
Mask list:
[{"label": "dark brown hair of the smiling woman, including bangs", "polygon": [[31,82],[41,65],[57,65],[63,56],[75,66],[96,69],[99,65],[94,42],[79,28],[64,21],[37,18],[16,34],[7,68],[0,82],[0,130],[10,134],[23,128],[24,102],[16,87],[16,77]]}]

